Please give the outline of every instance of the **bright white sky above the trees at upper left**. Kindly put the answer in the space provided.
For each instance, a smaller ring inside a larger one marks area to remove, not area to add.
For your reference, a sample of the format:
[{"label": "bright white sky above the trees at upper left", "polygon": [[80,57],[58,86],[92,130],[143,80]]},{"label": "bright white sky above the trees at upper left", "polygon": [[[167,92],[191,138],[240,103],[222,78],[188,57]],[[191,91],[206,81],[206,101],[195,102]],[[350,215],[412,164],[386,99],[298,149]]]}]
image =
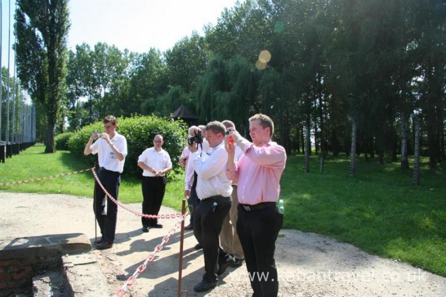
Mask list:
[{"label": "bright white sky above the trees at upper left", "polygon": [[[1,65],[8,61],[8,9],[11,5],[10,44],[14,43],[15,0],[1,0],[2,39]],[[71,28],[68,49],[87,43],[92,48],[98,42],[115,45],[118,49],[145,52],[151,47],[165,51],[192,31],[203,35],[203,26],[216,24],[224,7],[236,0],[70,0]],[[14,71],[14,51],[10,51],[11,76]]]}]

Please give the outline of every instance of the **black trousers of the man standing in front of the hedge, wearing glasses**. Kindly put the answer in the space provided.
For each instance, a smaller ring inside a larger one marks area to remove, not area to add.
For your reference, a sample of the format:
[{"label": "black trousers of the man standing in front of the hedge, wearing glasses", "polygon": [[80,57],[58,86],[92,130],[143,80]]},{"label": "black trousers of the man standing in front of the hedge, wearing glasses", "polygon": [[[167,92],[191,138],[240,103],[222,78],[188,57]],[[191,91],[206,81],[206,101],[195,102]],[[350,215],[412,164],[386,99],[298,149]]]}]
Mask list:
[{"label": "black trousers of the man standing in front of the hedge, wearing glasses", "polygon": [[[166,192],[166,177],[164,176],[143,176],[143,213],[158,215]],[[158,224],[158,219],[148,219],[141,217],[143,226],[154,226]]]}]

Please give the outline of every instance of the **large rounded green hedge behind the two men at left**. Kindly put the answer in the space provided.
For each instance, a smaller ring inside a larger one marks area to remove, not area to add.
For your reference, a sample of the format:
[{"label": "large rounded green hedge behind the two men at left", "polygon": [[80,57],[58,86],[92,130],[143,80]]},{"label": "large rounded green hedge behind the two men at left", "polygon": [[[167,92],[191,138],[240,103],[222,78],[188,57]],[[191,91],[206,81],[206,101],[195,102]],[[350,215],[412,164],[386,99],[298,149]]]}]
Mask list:
[{"label": "large rounded green hedge behind the two men at left", "polygon": [[[137,165],[138,156],[146,148],[153,147],[152,140],[157,134],[164,137],[163,148],[169,153],[176,172],[181,171],[178,157],[187,144],[187,126],[183,121],[166,120],[157,116],[134,116],[118,118],[116,131],[127,139],[127,157],[125,158],[124,174],[140,177],[142,169]],[[88,138],[94,131],[104,131],[102,121],[90,124],[75,132],[68,141],[69,150],[86,158],[92,165],[97,162],[97,155],[84,156],[84,148]]]}]

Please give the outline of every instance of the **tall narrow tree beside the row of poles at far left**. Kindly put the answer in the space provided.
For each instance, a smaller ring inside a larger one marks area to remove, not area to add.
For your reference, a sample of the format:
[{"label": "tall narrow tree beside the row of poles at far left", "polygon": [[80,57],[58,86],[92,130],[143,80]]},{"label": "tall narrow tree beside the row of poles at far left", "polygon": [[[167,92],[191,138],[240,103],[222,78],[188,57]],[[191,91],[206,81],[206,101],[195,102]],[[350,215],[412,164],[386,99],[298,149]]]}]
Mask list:
[{"label": "tall narrow tree beside the row of poles at far left", "polygon": [[55,152],[54,129],[65,99],[68,0],[17,0],[17,73],[47,116],[45,152]]}]

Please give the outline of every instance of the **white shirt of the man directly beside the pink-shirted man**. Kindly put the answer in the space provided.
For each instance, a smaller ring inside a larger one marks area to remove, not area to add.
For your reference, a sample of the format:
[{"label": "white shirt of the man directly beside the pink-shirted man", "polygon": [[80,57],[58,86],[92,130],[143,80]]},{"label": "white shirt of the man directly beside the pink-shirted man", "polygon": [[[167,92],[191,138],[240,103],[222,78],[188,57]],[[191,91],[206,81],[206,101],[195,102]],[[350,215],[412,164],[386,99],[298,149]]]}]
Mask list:
[{"label": "white shirt of the man directly beside the pink-shirted man", "polygon": [[197,196],[200,200],[221,195],[229,197],[232,193],[231,181],[226,177],[227,152],[224,142],[215,148],[209,148],[200,157],[198,151],[190,156],[197,172]]}]

